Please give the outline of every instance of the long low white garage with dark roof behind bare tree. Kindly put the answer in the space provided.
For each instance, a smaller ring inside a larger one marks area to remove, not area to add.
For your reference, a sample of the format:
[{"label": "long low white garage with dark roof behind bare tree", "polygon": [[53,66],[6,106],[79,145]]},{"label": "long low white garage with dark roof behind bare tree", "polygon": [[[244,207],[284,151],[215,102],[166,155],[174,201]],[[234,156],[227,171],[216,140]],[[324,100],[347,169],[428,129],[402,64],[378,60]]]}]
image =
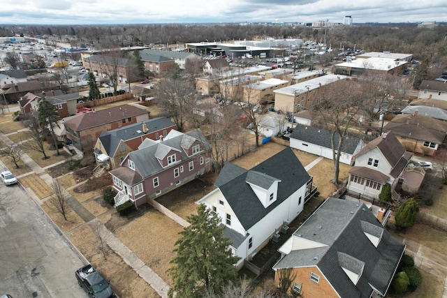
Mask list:
[{"label": "long low white garage with dark roof behind bare tree", "polygon": [[[300,151],[332,159],[332,144],[330,132],[312,126],[298,125],[290,137],[290,146]],[[338,144],[338,135],[335,135],[335,144]],[[342,145],[340,163],[351,165],[355,156],[365,143],[358,137],[345,137]]]}]

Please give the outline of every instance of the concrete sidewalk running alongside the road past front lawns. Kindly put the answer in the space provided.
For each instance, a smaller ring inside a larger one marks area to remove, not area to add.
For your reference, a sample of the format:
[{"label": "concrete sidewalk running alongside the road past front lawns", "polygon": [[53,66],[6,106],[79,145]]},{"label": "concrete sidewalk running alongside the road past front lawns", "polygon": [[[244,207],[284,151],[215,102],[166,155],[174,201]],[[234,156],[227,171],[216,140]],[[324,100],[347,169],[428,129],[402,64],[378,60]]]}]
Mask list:
[{"label": "concrete sidewalk running alongside the road past front lawns", "polygon": [[[0,140],[2,140],[5,144],[12,143],[12,141],[8,137],[6,137],[6,135],[3,135],[3,133],[0,133]],[[32,172],[38,174],[38,176],[41,177],[43,181],[45,181],[45,184],[51,187],[53,178],[50,176],[50,174],[47,174],[45,172],[43,167],[38,165],[27,154],[22,155],[22,161],[31,168]],[[57,164],[60,163],[55,163],[54,165]],[[54,165],[45,167],[45,169]],[[24,177],[28,174],[31,174],[32,172],[23,174],[20,177]],[[96,217],[91,214],[89,210],[87,210],[80,202],[78,202],[78,200],[73,198],[73,196],[70,195],[70,193],[68,193],[66,189],[64,189],[64,191],[66,192],[68,198],[68,205],[73,209],[73,211],[75,211],[76,214],[78,214],[78,216],[80,216],[80,218],[82,218],[82,220],[85,221],[85,223],[87,223],[88,225],[96,225],[101,230],[101,232],[106,235],[104,239],[108,246],[110,246],[112,251],[115,251],[115,253],[117,253],[117,255],[119,255],[124,260],[124,262],[126,262],[127,265],[132,267],[132,269],[138,274],[138,276],[146,281],[161,297],[167,298],[168,290],[170,289],[168,283],[166,283],[166,281],[163,281],[163,279],[158,274],[156,274],[150,267],[145,265],[145,263],[142,262],[142,260],[140,260],[137,255],[135,255],[135,253],[133,253],[127,246],[122,243],[122,241],[115,237],[115,235],[112,234],[112,232],[110,232],[105,227],[105,225],[101,223],[101,221],[98,221],[98,219],[96,219]],[[63,233],[61,230],[59,231]],[[70,244],[74,246],[71,242]]]}]

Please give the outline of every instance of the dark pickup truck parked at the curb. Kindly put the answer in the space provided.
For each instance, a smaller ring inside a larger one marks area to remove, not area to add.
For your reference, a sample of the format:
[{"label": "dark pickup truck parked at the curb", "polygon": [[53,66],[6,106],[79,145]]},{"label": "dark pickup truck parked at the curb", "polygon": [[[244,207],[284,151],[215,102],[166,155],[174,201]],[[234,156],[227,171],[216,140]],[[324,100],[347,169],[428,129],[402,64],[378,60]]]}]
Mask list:
[{"label": "dark pickup truck parked at the curb", "polygon": [[87,295],[92,298],[113,298],[115,293],[110,287],[108,281],[105,281],[103,276],[99,274],[93,266],[86,265],[76,270],[76,279],[78,285],[82,287]]}]

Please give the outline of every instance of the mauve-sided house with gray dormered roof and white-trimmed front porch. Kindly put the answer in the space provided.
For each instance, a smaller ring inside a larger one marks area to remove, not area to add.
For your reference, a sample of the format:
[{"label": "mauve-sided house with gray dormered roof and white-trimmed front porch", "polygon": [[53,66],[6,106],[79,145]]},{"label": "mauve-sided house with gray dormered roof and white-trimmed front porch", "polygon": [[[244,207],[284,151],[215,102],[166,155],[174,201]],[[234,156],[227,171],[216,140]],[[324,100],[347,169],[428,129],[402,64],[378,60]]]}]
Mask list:
[{"label": "mauve-sided house with gray dormered roof and white-trimmed front porch", "polygon": [[117,192],[115,206],[129,200],[139,206],[197,179],[211,168],[209,152],[200,130],[170,131],[162,142],[145,139],[121,167],[109,172]]}]

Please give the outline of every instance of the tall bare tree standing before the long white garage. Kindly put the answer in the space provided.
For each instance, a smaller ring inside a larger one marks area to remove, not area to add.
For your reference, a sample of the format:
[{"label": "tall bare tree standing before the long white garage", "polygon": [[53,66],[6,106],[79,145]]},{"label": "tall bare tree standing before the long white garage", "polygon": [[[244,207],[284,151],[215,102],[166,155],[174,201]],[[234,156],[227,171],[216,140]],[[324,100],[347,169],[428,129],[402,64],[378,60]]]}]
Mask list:
[{"label": "tall bare tree standing before the long white garage", "polygon": [[318,115],[325,129],[330,131],[334,177],[332,183],[339,186],[339,160],[342,145],[349,130],[356,126],[362,109],[358,84],[351,80],[339,80],[321,87],[309,108]]}]

